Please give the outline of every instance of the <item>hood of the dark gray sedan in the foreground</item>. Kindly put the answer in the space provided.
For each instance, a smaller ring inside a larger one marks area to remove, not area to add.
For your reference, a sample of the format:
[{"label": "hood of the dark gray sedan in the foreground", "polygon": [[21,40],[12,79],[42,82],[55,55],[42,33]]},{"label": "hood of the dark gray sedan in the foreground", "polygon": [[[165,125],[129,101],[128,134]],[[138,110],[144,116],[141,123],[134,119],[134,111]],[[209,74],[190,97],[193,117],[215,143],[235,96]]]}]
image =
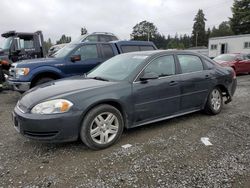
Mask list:
[{"label": "hood of the dark gray sedan in the foreground", "polygon": [[101,88],[112,84],[116,84],[116,82],[85,79],[82,76],[77,76],[71,79],[53,81],[37,86],[26,92],[19,103],[26,108],[31,108],[41,101],[58,97],[63,98],[65,95]]}]

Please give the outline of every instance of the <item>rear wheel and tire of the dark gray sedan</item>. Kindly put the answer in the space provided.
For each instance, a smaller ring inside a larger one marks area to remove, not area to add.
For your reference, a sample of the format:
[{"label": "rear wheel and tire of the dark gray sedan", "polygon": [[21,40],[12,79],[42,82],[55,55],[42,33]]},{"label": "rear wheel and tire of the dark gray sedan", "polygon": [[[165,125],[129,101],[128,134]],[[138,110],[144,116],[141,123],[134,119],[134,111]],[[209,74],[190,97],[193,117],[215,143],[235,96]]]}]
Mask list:
[{"label": "rear wheel and tire of the dark gray sedan", "polygon": [[205,112],[207,114],[216,115],[221,112],[223,106],[222,92],[218,87],[215,87],[208,95]]}]

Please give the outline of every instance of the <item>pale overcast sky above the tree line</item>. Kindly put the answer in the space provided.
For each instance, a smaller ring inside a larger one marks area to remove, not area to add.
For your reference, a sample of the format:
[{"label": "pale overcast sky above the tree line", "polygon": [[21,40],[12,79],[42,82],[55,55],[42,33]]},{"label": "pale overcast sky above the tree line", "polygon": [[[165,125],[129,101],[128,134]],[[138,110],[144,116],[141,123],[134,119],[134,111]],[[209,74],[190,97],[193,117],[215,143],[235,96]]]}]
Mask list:
[{"label": "pale overcast sky above the tree line", "polygon": [[45,39],[55,42],[62,34],[75,38],[86,27],[129,39],[133,26],[148,20],[166,36],[191,34],[198,9],[205,13],[206,27],[212,27],[228,20],[232,4],[233,0],[0,0],[0,33],[42,30]]}]

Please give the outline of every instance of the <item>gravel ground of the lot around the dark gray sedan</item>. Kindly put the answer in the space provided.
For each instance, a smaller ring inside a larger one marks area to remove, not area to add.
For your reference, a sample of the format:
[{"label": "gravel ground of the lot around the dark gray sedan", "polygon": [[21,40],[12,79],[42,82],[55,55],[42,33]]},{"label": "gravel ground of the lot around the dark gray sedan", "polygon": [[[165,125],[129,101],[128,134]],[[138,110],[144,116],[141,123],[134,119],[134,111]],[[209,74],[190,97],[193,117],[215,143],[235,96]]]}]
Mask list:
[{"label": "gravel ground of the lot around the dark gray sedan", "polygon": [[250,75],[238,77],[233,102],[219,115],[200,112],[127,130],[101,151],[80,141],[22,137],[11,121],[19,97],[0,93],[0,188],[250,187]]}]

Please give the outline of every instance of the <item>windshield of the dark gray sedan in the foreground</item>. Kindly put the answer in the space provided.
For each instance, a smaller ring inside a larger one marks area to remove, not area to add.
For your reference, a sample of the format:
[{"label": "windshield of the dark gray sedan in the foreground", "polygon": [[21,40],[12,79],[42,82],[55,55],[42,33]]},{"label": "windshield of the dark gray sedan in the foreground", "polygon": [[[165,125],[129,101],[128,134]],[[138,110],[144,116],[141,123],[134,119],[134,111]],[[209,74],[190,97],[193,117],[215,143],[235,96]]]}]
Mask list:
[{"label": "windshield of the dark gray sedan in the foreground", "polygon": [[114,81],[126,80],[147,57],[138,54],[118,55],[102,63],[91,71],[87,77],[98,77]]}]

